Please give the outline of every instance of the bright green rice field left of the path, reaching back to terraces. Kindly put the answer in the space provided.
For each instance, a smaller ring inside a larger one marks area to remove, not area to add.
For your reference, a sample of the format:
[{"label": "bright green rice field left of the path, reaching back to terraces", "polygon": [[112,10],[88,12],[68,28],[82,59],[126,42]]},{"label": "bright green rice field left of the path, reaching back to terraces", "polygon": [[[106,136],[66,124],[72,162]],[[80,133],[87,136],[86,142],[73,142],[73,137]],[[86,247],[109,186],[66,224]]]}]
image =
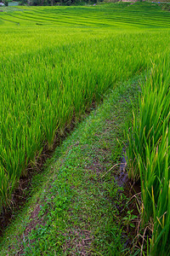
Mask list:
[{"label": "bright green rice field left of the path, reaching back to terraces", "polygon": [[168,55],[170,15],[145,3],[3,10],[8,10],[0,13],[5,207],[44,144],[53,147],[56,131],[62,134],[109,88]]}]

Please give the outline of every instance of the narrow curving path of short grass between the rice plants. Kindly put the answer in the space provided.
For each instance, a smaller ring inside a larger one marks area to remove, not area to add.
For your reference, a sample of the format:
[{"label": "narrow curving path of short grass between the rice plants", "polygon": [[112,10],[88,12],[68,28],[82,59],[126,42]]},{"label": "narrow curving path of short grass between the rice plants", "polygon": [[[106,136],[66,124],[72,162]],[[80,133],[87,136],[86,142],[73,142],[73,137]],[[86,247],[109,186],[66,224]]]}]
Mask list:
[{"label": "narrow curving path of short grass between the rice plants", "polygon": [[56,148],[0,255],[130,255],[128,199],[115,177],[138,80],[119,84]]}]

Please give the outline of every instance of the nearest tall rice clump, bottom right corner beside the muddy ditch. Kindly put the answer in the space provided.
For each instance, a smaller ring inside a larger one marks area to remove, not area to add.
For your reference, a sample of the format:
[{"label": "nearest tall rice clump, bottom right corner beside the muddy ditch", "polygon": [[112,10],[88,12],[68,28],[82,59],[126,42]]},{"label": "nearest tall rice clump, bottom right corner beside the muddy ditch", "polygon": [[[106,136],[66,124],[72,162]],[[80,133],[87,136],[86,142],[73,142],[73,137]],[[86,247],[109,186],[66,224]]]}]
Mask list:
[{"label": "nearest tall rice clump, bottom right corner beside the muddy ditch", "polygon": [[[166,132],[167,133],[167,132]],[[170,236],[170,177],[169,177],[169,146],[167,135],[153,150],[146,148],[147,162],[139,159],[141,191],[143,199],[143,224],[150,223],[151,255],[168,255]],[[159,173],[158,173],[159,172]]]}]

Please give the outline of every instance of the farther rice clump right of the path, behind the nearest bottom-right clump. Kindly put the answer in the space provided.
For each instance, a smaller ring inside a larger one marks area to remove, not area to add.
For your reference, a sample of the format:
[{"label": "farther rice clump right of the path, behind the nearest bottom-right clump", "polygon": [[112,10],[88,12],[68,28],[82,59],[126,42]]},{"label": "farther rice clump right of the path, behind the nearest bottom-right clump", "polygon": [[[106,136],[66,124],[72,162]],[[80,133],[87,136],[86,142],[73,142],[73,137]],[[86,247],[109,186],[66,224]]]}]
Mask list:
[{"label": "farther rice clump right of the path, behind the nearest bottom-right clump", "polygon": [[145,163],[145,146],[149,143],[154,148],[159,143],[163,124],[169,120],[169,65],[166,57],[161,61],[161,67],[152,67],[150,78],[142,86],[142,97],[139,96],[139,113],[133,112],[133,129],[128,133],[128,175],[133,180],[139,178],[138,154]]}]

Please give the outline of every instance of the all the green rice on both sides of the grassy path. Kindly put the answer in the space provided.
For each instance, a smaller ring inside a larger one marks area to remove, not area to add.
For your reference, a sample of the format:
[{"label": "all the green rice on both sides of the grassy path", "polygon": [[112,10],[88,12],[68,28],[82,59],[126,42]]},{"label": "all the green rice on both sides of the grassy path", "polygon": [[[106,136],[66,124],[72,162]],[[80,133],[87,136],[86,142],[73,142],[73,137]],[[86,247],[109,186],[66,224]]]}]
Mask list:
[{"label": "all the green rice on both sides of the grassy path", "polygon": [[20,177],[116,84],[147,73],[128,132],[148,253],[170,246],[170,13],[158,3],[0,8],[0,207]]}]

